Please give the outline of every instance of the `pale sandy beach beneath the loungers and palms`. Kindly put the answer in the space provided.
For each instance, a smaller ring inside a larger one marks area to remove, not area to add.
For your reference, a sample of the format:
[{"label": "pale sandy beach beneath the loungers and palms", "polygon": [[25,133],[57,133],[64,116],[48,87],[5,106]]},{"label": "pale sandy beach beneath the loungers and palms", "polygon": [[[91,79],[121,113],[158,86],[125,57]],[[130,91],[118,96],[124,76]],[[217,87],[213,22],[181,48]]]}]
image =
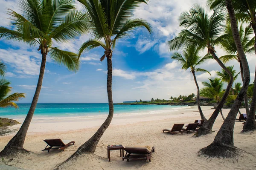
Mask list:
[{"label": "pale sandy beach beneath the loungers and palms", "polygon": [[[211,107],[202,107],[207,118],[212,114]],[[244,109],[240,109],[245,112]],[[229,109],[223,109],[226,116]],[[32,122],[26,137],[24,148],[33,153],[28,156],[15,158],[7,164],[27,170],[52,170],[56,165],[65,161],[77,148],[87,141],[104,121],[105,116],[91,119],[63,119],[51,122]],[[174,123],[193,123],[200,119],[197,107],[179,109],[175,112],[150,115],[115,115],[110,127],[105,131],[98,146],[96,155],[81,156],[77,161],[70,162],[65,170],[194,170],[194,169],[256,169],[256,134],[241,134],[242,123],[236,122],[234,129],[234,143],[236,147],[247,152],[238,161],[233,159],[207,160],[198,157],[197,152],[202,147],[211,144],[216,132],[221,127],[221,115],[215,121],[215,133],[200,138],[193,138],[193,134],[171,135],[163,133],[164,128],[171,128]],[[20,125],[15,125],[16,127]],[[8,143],[14,134],[0,137],[0,150]],[[41,151],[46,144],[45,138],[72,139],[74,146],[63,151]],[[107,158],[108,144],[154,145],[155,153],[151,162],[122,161],[119,151],[111,151],[111,162]]]}]

